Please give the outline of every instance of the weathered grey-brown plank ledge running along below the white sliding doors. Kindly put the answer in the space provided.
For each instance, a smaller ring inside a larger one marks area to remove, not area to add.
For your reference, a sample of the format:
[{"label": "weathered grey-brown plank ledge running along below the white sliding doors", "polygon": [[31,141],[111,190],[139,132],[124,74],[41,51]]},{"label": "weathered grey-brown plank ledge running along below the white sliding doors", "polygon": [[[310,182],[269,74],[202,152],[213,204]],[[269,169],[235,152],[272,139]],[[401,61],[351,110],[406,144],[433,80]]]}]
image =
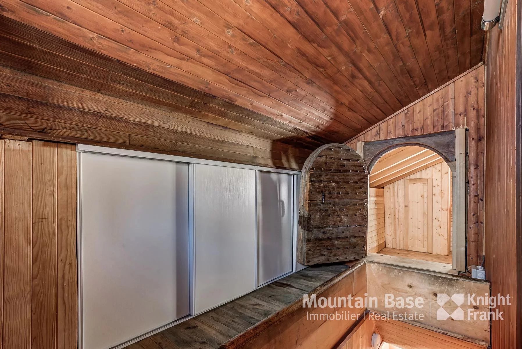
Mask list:
[{"label": "weathered grey-brown plank ledge running along below the white sliding doors", "polygon": [[[346,265],[310,266],[137,342],[127,349],[212,349],[300,299]],[[157,345],[157,347],[155,346]]]}]

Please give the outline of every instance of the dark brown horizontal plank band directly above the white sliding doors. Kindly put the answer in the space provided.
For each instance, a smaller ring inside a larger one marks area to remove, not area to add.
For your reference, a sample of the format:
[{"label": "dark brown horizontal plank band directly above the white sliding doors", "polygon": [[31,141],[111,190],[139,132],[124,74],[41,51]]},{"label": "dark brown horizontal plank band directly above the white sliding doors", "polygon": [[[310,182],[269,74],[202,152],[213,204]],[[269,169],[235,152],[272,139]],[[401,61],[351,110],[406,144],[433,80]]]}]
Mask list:
[{"label": "dark brown horizontal plank band directly above the white sliding doors", "polygon": [[[176,108],[0,66],[0,133],[287,169],[300,169],[311,153],[278,142],[275,134],[254,135],[250,126]],[[208,122],[212,118],[215,123]]]}]

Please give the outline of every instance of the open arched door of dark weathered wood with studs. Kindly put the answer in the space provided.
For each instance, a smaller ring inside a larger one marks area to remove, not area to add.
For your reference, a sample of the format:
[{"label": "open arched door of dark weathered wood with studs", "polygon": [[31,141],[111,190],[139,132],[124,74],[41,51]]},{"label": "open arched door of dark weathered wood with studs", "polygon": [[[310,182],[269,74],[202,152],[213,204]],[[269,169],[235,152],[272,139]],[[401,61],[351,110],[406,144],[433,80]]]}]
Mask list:
[{"label": "open arched door of dark weathered wood with studs", "polygon": [[326,144],[301,175],[298,261],[311,265],[366,255],[368,171],[355,150]]}]

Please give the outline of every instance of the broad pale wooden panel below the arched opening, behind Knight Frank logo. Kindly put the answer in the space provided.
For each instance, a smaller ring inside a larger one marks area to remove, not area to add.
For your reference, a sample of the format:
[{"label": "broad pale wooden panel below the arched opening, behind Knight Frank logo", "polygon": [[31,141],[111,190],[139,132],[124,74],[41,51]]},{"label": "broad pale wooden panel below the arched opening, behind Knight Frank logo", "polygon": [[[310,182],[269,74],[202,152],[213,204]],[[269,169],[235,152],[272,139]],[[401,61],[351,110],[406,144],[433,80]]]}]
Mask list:
[{"label": "broad pale wooden panel below the arched opening, behind Knight Frank logo", "polygon": [[[467,300],[468,294],[489,295],[488,282],[376,262],[366,262],[366,275],[368,296],[377,299],[374,304],[369,306],[369,310],[384,314],[389,318],[402,316],[403,318],[400,319],[402,321],[411,322],[429,330],[436,329],[438,332],[479,345],[488,346],[490,343],[489,320],[467,315],[468,309],[472,313],[489,311],[489,305],[480,302],[471,303]],[[386,307],[385,294],[389,293],[392,293],[395,299],[407,296],[421,297],[423,299],[422,307],[406,308],[397,304]],[[437,303],[439,294],[448,295],[448,300],[442,305]],[[460,309],[464,311],[463,319],[456,321],[451,317],[444,320],[437,317],[437,311],[441,307],[448,315],[452,315],[459,308],[453,300],[449,299],[454,294],[464,294],[466,298],[460,305]],[[417,314],[414,320],[407,318],[408,315],[414,314]],[[419,316],[420,314],[423,316]]]}]

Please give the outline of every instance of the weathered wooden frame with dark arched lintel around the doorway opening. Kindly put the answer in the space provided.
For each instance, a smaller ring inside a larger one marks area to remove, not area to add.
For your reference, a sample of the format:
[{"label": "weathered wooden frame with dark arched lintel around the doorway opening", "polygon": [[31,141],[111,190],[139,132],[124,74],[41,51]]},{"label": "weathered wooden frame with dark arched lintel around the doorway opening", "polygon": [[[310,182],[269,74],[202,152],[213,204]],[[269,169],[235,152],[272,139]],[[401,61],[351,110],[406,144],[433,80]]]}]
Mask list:
[{"label": "weathered wooden frame with dark arched lintel around the doorway opening", "polygon": [[466,271],[467,166],[466,129],[428,133],[418,136],[358,142],[357,151],[371,173],[379,158],[392,149],[404,146],[427,148],[440,155],[452,170],[453,188],[453,269]]}]

